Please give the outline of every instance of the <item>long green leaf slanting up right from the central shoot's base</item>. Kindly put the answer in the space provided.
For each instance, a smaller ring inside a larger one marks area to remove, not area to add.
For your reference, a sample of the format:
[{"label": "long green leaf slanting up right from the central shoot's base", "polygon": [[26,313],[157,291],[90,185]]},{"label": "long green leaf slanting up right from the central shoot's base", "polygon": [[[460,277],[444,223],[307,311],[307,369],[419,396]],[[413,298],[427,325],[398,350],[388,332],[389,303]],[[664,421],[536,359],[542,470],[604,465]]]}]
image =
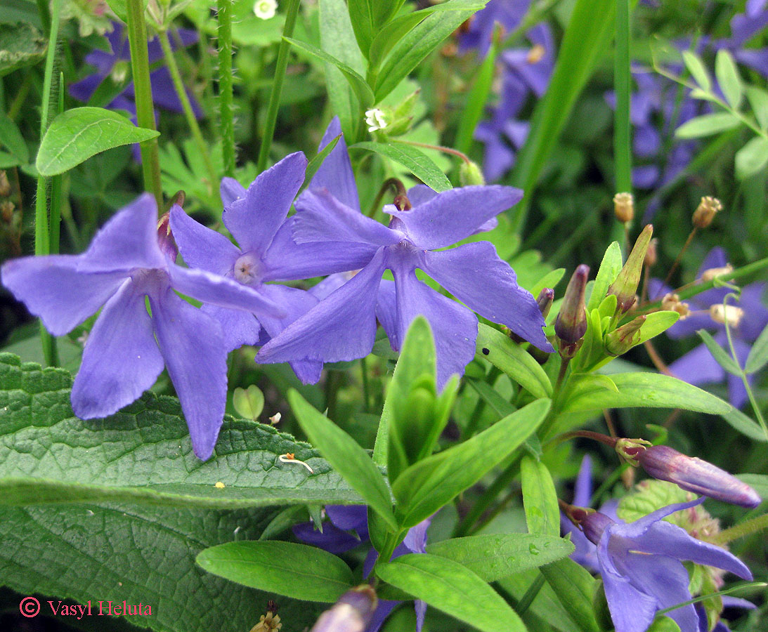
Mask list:
[{"label": "long green leaf slanting up right from the central shoot's base", "polygon": [[550,401],[537,399],[468,441],[412,465],[392,485],[402,528],[435,513],[502,463],[535,432]]}]

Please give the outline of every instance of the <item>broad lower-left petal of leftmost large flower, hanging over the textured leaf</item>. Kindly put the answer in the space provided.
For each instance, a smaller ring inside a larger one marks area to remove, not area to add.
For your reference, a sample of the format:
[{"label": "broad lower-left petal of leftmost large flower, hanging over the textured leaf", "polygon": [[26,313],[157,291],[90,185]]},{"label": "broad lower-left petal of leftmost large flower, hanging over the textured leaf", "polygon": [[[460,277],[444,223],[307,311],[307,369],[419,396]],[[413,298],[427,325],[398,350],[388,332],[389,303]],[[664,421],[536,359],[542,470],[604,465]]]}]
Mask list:
[{"label": "broad lower-left petal of leftmost large flower, hanging over the textured leaf", "polygon": [[91,329],[72,385],[72,410],[81,419],[106,417],[134,402],[163,370],[144,292],[125,280]]}]

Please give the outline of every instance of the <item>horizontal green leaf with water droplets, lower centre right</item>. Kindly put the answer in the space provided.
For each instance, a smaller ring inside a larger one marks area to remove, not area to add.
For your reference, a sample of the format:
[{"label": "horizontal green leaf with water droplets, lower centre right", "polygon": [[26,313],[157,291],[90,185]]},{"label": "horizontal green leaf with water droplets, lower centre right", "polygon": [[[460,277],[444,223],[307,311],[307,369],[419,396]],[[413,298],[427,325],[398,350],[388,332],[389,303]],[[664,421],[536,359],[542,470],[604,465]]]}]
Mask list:
[{"label": "horizontal green leaf with water droplets, lower centre right", "polygon": [[426,550],[462,564],[484,581],[497,581],[565,558],[574,548],[558,535],[500,533],[443,540],[427,544]]}]

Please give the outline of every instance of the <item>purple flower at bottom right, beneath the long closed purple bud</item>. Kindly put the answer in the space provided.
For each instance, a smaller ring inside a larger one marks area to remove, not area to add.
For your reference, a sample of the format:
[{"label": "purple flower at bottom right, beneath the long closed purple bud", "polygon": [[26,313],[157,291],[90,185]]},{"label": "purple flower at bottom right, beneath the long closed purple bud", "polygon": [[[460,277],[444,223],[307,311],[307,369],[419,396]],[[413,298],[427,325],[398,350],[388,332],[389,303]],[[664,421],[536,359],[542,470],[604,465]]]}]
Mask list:
[{"label": "purple flower at bottom right, beneath the long closed purple bud", "polygon": [[[598,547],[598,566],[616,632],[644,632],[658,610],[690,601],[690,579],[681,560],[752,579],[743,562],[725,549],[692,538],[684,529],[662,520],[702,501],[697,498],[669,505],[628,524],[599,512],[582,522],[584,533]],[[699,629],[692,604],[671,610],[667,616],[680,630]]]}]

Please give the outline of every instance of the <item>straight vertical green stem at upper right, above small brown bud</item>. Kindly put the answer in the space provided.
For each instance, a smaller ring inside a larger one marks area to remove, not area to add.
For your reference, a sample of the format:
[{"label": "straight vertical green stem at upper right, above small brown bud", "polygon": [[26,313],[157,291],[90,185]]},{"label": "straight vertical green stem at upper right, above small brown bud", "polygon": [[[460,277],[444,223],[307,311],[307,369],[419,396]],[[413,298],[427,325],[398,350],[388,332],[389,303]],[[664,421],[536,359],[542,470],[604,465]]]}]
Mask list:
[{"label": "straight vertical green stem at upper right, above small brown bud", "polygon": [[632,143],[630,127],[630,41],[631,11],[629,0],[616,0],[616,54],[614,55],[614,170],[616,192],[632,192]]}]

